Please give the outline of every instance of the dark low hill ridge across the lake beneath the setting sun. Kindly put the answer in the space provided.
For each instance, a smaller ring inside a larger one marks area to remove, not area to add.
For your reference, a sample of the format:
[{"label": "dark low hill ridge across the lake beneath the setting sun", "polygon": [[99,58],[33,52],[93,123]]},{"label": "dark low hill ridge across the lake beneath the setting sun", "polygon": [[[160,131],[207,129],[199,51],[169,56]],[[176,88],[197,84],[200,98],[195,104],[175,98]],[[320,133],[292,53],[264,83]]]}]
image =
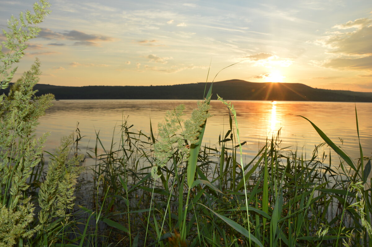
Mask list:
[{"label": "dark low hill ridge across the lake beneath the setting sun", "polygon": [[[210,82],[207,83],[207,90],[210,84]],[[203,98],[204,88],[205,83],[164,86],[67,87],[47,84],[35,86],[35,89],[39,90],[36,95],[52,93],[58,100],[200,100]],[[214,82],[212,100],[217,99],[217,94],[227,100],[372,102],[372,92],[326,90],[312,88],[301,83],[248,82],[238,79]]]}]

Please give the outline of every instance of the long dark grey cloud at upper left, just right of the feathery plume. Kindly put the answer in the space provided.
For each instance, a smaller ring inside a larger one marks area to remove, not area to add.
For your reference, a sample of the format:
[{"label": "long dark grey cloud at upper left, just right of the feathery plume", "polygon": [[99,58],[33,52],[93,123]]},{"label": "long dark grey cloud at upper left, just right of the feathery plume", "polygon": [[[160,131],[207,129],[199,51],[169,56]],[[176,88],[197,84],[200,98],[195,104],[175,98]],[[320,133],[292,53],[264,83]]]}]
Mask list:
[{"label": "long dark grey cloud at upper left, just right of the feathery plume", "polygon": [[[97,34],[87,34],[84,32],[80,32],[77,30],[70,30],[64,31],[62,33],[54,32],[51,29],[43,28],[39,33],[39,38],[43,39],[67,39],[67,40],[76,40],[73,45],[87,45],[87,46],[98,46],[93,41],[103,41],[103,42],[112,42],[114,41],[113,38],[104,35],[97,35]],[[51,43],[53,45],[57,45],[57,43]]]}]

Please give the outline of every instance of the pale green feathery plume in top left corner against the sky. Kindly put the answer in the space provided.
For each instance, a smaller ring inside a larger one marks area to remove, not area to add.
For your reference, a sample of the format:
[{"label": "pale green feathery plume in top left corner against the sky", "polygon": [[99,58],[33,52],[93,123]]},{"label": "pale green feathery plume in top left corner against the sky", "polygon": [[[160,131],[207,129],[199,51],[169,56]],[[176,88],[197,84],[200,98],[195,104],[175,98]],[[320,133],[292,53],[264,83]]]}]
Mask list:
[{"label": "pale green feathery plume in top left corner against the sky", "polygon": [[[35,26],[44,20],[44,17],[51,12],[50,4],[47,0],[40,0],[39,3],[33,4],[33,11],[29,10],[26,13],[21,12],[19,19],[13,15],[8,20],[8,31],[2,29],[6,40],[0,44],[0,89],[5,89],[9,86],[17,67],[13,68],[12,64],[19,62],[25,55],[27,48],[26,42],[30,39],[36,38],[41,28]],[[7,53],[2,51],[3,46],[9,50]],[[1,100],[1,99],[0,99]]]}]

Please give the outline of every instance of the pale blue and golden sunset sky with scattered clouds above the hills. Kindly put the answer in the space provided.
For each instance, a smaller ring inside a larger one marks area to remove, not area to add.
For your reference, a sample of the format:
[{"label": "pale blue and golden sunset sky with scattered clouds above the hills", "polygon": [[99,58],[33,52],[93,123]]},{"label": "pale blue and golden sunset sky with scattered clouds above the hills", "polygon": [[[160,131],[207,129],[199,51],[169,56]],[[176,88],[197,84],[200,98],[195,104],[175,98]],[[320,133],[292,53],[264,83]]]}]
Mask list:
[{"label": "pale blue and golden sunset sky with scattered clouds above the hills", "polygon": [[[0,28],[35,0],[0,0]],[[40,83],[296,82],[372,92],[371,0],[50,0],[16,77]],[[4,36],[0,36],[0,40]]]}]

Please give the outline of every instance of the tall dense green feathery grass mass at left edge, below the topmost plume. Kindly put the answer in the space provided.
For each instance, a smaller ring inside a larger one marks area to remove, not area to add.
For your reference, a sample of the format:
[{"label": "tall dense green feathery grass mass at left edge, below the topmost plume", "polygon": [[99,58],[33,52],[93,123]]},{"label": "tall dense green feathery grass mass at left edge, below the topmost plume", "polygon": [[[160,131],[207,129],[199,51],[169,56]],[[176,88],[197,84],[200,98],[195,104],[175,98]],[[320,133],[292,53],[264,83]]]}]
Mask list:
[{"label": "tall dense green feathery grass mass at left edge, below the topmost plume", "polygon": [[0,246],[10,245],[18,238],[29,238],[40,228],[29,228],[33,220],[34,206],[28,197],[28,178],[41,162],[43,144],[48,134],[35,138],[38,118],[44,115],[54,96],[34,97],[33,86],[38,82],[40,63],[23,73],[10,88],[9,94],[1,95],[0,111]]}]

